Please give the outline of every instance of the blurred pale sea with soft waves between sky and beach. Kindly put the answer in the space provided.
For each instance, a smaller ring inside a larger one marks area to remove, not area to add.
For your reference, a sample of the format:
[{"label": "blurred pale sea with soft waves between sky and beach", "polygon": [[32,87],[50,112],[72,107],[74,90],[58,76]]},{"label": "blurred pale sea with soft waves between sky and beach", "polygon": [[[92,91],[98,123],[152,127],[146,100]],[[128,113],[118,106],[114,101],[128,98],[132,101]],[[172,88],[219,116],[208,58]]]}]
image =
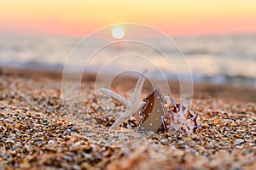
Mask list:
[{"label": "blurred pale sea with soft waves between sky and beach", "polygon": [[[0,36],[0,66],[114,74],[147,68],[168,79],[177,74],[194,82],[256,88],[256,35],[141,37],[113,42],[64,36]],[[151,45],[150,42],[154,42]],[[157,47],[155,47],[157,46]],[[72,68],[72,69],[71,69]]]}]

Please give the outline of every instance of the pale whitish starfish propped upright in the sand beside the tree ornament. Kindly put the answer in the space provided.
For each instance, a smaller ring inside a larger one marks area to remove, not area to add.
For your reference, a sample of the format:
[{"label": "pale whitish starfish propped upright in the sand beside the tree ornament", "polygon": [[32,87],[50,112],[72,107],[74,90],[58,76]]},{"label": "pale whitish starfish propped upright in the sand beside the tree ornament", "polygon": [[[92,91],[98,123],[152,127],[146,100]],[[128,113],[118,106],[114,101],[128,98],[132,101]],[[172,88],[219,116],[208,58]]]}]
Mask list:
[{"label": "pale whitish starfish propped upright in the sand beside the tree ornament", "polygon": [[113,91],[107,89],[107,88],[101,88],[101,92],[103,94],[110,95],[111,98],[113,98],[116,101],[119,101],[121,104],[125,105],[127,107],[127,110],[119,116],[119,118],[116,120],[116,122],[113,123],[113,125],[110,127],[110,129],[115,129],[116,127],[119,127],[119,125],[125,121],[125,119],[133,114],[135,114],[137,122],[140,121],[140,116],[138,114],[138,111],[140,111],[143,106],[145,105],[145,102],[140,102],[141,98],[141,91],[143,89],[143,83],[145,82],[145,75],[147,74],[147,70],[143,70],[143,73],[140,75],[136,87],[134,89],[131,101],[123,98],[119,94],[114,93]]}]

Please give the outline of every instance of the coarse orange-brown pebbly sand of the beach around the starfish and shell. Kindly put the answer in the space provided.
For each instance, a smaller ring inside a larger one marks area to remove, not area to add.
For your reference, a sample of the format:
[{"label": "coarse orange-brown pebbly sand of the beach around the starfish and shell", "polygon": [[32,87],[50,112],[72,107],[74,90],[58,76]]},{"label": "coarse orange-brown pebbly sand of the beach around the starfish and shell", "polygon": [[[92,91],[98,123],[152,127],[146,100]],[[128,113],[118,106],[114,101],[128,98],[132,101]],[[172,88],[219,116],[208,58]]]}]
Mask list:
[{"label": "coarse orange-brown pebbly sand of the beach around the starfish and shell", "polygon": [[[199,111],[202,122],[196,133],[129,136],[132,144],[122,146],[135,118],[109,130],[125,108],[103,110],[94,80],[83,77],[84,103],[68,111],[60,72],[0,68],[0,169],[256,168],[255,88],[195,84],[191,110]],[[125,96],[136,81],[123,78],[113,90]],[[178,99],[178,82],[171,83]]]}]

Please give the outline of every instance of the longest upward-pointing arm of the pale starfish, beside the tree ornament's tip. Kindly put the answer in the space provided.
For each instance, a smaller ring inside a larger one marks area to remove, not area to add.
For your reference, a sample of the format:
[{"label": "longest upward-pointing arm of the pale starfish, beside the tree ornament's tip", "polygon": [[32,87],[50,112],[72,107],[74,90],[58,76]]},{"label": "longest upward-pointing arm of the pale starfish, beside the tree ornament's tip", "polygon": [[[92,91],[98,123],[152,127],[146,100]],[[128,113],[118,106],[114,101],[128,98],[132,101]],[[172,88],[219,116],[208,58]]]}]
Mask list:
[{"label": "longest upward-pointing arm of the pale starfish, beside the tree ornament's tip", "polygon": [[145,82],[145,75],[147,74],[148,70],[145,69],[143,70],[142,74],[140,75],[138,81],[137,81],[137,84],[136,84],[136,87],[135,87],[135,90],[134,90],[134,94],[133,94],[133,98],[132,98],[132,101],[135,103],[137,103],[139,100],[140,100],[140,97],[141,97],[141,91],[143,89],[143,84]]}]

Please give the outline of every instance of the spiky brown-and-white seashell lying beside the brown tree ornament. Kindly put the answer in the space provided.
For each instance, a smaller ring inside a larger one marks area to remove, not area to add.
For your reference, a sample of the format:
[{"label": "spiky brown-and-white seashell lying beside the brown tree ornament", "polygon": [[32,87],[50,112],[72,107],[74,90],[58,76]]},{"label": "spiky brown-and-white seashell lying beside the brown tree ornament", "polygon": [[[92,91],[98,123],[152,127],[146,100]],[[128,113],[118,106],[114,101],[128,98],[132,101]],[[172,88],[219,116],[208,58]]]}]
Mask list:
[{"label": "spiky brown-and-white seashell lying beside the brown tree ornament", "polygon": [[166,125],[169,129],[174,129],[175,132],[195,133],[198,127],[201,127],[198,112],[195,114],[190,111],[190,104],[187,107],[183,105],[183,99],[177,104],[170,94],[169,98],[172,101],[171,110],[166,112]]}]

